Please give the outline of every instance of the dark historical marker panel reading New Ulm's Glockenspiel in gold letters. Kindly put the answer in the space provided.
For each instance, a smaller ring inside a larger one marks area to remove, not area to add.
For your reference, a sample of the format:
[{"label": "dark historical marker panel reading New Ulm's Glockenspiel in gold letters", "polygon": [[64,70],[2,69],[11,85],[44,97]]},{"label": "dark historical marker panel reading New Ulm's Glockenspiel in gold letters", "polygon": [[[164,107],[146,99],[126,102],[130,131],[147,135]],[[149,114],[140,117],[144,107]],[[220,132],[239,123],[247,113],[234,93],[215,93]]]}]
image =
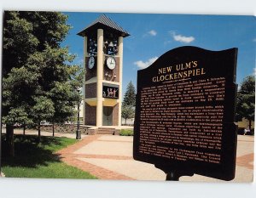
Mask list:
[{"label": "dark historical marker panel reading New Ulm's Glockenspiel in gold letters", "polygon": [[137,72],[134,159],[235,177],[236,55],[237,48],[175,48]]}]

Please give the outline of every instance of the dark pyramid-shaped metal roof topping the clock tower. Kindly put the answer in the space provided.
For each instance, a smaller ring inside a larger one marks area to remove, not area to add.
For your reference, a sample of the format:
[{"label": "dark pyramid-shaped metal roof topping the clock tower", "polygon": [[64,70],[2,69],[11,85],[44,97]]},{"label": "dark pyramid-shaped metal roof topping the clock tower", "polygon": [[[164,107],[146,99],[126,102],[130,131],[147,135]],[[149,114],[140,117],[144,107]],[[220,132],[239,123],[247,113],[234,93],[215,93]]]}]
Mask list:
[{"label": "dark pyramid-shaped metal roof topping the clock tower", "polygon": [[78,33],[79,36],[84,37],[90,35],[91,31],[102,28],[103,30],[113,31],[118,36],[128,37],[130,34],[125,31],[121,26],[117,25],[113,20],[110,20],[108,16],[102,14],[98,19],[88,25],[83,31]]}]

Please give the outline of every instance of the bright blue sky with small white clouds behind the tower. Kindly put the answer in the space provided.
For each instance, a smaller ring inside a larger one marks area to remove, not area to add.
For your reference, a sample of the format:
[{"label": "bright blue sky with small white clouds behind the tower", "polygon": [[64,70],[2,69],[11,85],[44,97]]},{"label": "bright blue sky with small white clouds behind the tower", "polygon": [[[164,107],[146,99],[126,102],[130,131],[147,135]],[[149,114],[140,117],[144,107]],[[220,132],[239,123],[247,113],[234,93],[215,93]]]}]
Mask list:
[{"label": "bright blue sky with small white clouds behind the tower", "polygon": [[[83,37],[77,33],[102,13],[64,13],[73,28],[62,43],[77,54],[83,64]],[[172,48],[196,46],[218,51],[238,48],[237,78],[241,83],[255,74],[256,20],[253,16],[191,14],[113,14],[104,13],[128,31],[124,39],[123,92],[128,82],[137,83],[137,70],[150,65]],[[124,94],[124,93],[123,93]]]}]

